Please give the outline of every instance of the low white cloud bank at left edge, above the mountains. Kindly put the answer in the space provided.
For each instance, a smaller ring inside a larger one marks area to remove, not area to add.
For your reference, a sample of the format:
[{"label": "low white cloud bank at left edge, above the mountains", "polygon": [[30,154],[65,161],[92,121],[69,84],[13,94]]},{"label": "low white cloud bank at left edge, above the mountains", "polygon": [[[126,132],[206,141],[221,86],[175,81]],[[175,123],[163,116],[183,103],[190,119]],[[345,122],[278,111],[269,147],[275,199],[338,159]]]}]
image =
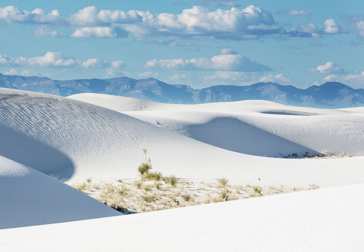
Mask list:
[{"label": "low white cloud bank at left edge, above the mountains", "polygon": [[33,58],[20,57],[18,59],[0,54],[0,66],[77,67],[84,69],[111,67],[111,69],[121,69],[124,67],[124,64],[122,61],[109,63],[100,59],[81,61],[63,53],[47,52],[43,56]]}]

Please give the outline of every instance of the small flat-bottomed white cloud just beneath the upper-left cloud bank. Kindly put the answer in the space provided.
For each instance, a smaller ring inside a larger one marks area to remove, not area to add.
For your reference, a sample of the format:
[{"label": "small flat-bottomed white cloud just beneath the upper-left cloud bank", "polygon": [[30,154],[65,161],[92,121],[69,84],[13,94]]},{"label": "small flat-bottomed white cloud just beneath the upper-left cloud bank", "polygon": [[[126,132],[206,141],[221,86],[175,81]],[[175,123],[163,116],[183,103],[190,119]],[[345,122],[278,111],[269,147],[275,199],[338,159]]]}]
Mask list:
[{"label": "small flat-bottomed white cloud just beneath the upper-left cloud bank", "polygon": [[71,38],[126,38],[128,33],[118,27],[82,27]]}]

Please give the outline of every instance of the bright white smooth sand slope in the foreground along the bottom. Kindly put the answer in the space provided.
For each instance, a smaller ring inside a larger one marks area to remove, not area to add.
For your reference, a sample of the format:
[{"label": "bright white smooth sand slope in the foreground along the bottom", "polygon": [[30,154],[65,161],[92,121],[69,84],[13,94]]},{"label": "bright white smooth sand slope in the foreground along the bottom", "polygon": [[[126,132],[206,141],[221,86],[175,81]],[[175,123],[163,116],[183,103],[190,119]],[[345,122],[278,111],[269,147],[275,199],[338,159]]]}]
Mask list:
[{"label": "bright white smooth sand slope in the foreground along the bottom", "polygon": [[364,184],[0,230],[4,251],[363,251]]}]

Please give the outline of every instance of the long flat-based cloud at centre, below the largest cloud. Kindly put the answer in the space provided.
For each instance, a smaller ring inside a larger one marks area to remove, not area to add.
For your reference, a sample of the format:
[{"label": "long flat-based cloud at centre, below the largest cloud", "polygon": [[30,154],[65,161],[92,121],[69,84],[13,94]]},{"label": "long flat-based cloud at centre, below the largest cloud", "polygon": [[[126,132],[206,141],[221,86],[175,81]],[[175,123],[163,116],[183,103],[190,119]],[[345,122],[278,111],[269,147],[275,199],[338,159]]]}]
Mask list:
[{"label": "long flat-based cloud at centre, below the largest cloud", "polygon": [[211,59],[153,59],[144,65],[145,69],[164,70],[217,70],[217,71],[241,71],[261,72],[272,69],[261,63],[251,61],[242,55],[216,55]]}]

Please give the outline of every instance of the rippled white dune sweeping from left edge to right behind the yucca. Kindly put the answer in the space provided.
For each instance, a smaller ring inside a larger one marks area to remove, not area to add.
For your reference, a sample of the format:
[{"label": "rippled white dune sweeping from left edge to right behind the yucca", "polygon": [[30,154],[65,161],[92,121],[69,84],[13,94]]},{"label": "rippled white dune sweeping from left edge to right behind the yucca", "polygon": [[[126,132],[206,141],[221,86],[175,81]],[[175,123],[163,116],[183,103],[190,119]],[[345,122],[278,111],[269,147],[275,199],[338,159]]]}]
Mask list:
[{"label": "rippled white dune sweeping from left edge to right behind the yucca", "polygon": [[[252,156],[69,98],[11,89],[0,89],[0,98],[0,132],[6,132],[0,134],[0,155],[70,182],[89,177],[135,178],[143,160],[142,148],[148,149],[154,170],[179,178],[225,176],[231,183],[253,185],[261,178],[261,184],[267,186],[304,188],[311,183],[325,187],[364,181],[362,157]],[[258,138],[257,143],[262,140]],[[43,149],[33,151],[34,142]],[[57,162],[48,154],[58,157]]]}]

